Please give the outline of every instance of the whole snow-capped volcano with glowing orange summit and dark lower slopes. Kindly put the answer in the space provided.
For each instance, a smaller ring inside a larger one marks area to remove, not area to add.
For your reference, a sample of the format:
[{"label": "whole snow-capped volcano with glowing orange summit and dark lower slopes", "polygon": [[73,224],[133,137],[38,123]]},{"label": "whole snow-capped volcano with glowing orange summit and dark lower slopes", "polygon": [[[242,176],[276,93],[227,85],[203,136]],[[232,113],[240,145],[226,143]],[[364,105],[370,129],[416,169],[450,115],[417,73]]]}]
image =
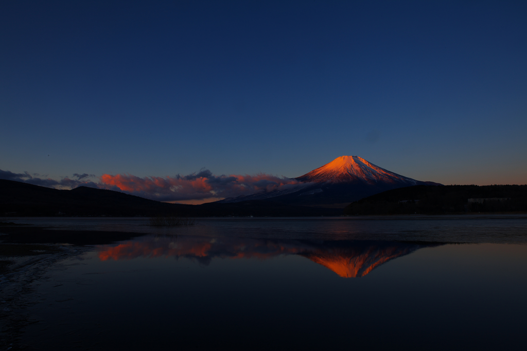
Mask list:
[{"label": "whole snow-capped volcano with glowing orange summit and dark lower slopes", "polygon": [[358,156],[338,157],[294,179],[299,183],[286,190],[260,192],[218,202],[269,200],[297,206],[344,208],[353,201],[390,189],[442,185],[401,176]]}]

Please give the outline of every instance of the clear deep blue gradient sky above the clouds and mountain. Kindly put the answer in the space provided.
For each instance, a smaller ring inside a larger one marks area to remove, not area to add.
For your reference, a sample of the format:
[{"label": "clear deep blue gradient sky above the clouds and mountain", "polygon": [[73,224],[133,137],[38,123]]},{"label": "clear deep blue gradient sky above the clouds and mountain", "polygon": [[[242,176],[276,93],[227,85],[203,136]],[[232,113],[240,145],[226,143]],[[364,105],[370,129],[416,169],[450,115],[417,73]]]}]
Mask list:
[{"label": "clear deep blue gradient sky above the clouds and mountain", "polygon": [[527,183],[525,1],[3,1],[0,45],[4,171]]}]

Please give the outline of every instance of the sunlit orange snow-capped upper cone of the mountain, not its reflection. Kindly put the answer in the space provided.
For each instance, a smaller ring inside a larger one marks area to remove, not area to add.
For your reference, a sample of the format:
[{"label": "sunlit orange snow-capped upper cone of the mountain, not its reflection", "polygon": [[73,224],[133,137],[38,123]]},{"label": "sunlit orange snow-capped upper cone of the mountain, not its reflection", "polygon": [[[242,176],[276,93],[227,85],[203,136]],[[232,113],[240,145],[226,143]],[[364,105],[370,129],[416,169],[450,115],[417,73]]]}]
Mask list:
[{"label": "sunlit orange snow-capped upper cone of the mountain, not its reflection", "polygon": [[380,168],[358,156],[341,156],[296,178],[302,182],[349,182],[362,180],[367,183],[408,183],[415,185],[412,178]]}]

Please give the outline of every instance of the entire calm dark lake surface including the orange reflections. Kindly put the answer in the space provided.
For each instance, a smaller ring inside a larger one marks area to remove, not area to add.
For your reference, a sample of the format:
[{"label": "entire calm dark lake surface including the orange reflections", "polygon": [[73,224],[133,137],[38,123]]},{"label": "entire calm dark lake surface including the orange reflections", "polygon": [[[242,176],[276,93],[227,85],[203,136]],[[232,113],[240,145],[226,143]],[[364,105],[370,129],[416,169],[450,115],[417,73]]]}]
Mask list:
[{"label": "entire calm dark lake surface including the orange reflections", "polygon": [[37,349],[525,347],[525,216],[18,221],[145,233],[34,283]]}]

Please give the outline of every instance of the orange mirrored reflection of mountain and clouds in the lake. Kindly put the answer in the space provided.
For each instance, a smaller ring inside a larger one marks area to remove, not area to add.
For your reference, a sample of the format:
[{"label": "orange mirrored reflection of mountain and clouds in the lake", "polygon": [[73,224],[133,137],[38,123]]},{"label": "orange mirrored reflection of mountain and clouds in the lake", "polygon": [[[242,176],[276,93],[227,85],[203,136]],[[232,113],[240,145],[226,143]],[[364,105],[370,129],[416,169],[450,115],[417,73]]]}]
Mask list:
[{"label": "orange mirrored reflection of mountain and clouds in the lake", "polygon": [[343,278],[364,277],[376,267],[417,249],[439,243],[389,241],[307,241],[193,236],[148,236],[117,246],[101,246],[99,259],[180,257],[209,265],[213,258],[269,259],[300,255]]}]

